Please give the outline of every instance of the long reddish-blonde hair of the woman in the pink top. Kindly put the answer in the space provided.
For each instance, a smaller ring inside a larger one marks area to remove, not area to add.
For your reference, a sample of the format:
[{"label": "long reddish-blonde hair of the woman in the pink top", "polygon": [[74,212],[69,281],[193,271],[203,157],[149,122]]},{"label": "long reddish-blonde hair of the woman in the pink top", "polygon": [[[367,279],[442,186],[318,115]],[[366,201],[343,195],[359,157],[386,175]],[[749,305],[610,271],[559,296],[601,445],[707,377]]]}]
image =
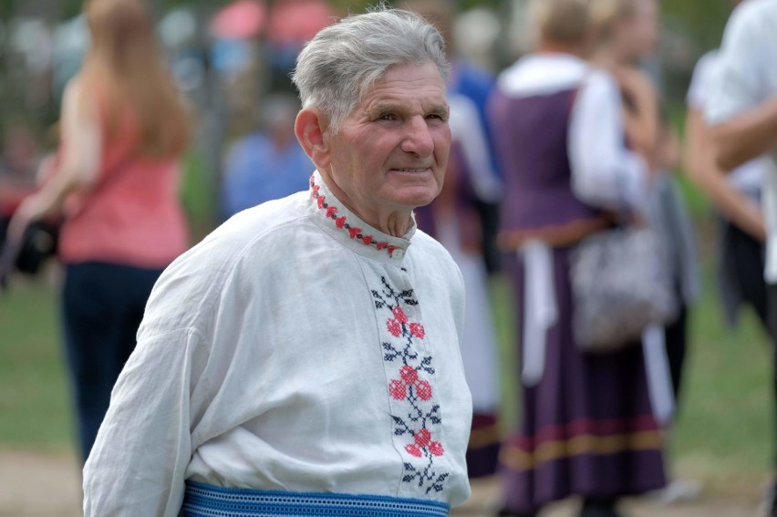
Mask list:
[{"label": "long reddish-blonde hair of the woman in the pink top", "polygon": [[129,110],[142,155],[180,154],[189,140],[189,115],[163,63],[148,6],[143,0],[87,0],[83,10],[91,46],[81,76],[103,101],[107,140],[118,136]]}]

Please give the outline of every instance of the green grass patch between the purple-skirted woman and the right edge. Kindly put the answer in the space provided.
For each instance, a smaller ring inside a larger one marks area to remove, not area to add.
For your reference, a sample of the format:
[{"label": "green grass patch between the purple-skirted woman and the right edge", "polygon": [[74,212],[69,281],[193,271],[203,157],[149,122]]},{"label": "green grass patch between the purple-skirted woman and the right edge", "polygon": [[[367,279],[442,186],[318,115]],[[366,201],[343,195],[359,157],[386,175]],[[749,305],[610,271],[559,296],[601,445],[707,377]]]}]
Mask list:
[{"label": "green grass patch between the purple-skirted woman and the right edge", "polygon": [[687,384],[671,450],[681,475],[710,490],[752,491],[774,457],[772,352],[751,311],[726,326],[708,275],[690,324]]}]

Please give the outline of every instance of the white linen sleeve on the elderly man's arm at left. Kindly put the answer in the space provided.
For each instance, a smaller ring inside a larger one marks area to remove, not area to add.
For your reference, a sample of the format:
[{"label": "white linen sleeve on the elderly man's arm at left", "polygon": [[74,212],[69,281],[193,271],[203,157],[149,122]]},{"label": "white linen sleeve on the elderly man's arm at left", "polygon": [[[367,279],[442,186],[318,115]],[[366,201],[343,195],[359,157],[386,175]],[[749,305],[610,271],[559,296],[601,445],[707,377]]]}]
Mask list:
[{"label": "white linen sleeve on the elderly man's arm at left", "polygon": [[212,322],[224,259],[238,244],[206,238],[154,285],[84,467],[85,517],[176,517],[196,429],[210,406]]}]

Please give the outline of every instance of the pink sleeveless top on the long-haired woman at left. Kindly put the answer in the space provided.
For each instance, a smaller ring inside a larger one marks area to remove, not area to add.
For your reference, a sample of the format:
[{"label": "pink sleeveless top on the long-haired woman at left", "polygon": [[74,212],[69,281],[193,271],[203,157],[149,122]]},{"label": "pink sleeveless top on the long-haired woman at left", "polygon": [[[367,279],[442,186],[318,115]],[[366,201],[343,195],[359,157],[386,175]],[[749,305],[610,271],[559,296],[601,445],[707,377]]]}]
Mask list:
[{"label": "pink sleeveless top on the long-haired woman at left", "polygon": [[67,200],[59,258],[163,268],[188,247],[178,158],[136,156],[137,125],[129,117],[117,133],[119,140],[104,144],[98,181]]}]

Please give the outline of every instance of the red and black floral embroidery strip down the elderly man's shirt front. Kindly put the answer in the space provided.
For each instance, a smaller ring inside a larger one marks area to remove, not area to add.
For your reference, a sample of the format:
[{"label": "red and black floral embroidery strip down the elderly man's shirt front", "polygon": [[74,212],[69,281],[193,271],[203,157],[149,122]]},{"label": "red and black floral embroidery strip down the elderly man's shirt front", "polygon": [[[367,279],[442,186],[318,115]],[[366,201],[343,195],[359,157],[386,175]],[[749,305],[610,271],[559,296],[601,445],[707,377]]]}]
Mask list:
[{"label": "red and black floral embroidery strip down the elderly man's shirt front", "polygon": [[[375,308],[388,313],[386,331],[389,341],[383,342],[383,360],[388,371],[393,370],[388,382],[388,396],[393,401],[394,436],[403,437],[402,449],[408,454],[404,462],[402,481],[417,483],[420,489],[442,491],[449,472],[440,472],[436,459],[445,455],[439,436],[442,418],[440,404],[434,400],[434,388],[429,379],[434,376],[431,356],[420,356],[416,340],[426,335],[420,322],[410,321],[403,306],[419,305],[413,290],[395,290],[385,277],[382,288],[372,290]],[[391,363],[391,366],[388,365]]]}]

